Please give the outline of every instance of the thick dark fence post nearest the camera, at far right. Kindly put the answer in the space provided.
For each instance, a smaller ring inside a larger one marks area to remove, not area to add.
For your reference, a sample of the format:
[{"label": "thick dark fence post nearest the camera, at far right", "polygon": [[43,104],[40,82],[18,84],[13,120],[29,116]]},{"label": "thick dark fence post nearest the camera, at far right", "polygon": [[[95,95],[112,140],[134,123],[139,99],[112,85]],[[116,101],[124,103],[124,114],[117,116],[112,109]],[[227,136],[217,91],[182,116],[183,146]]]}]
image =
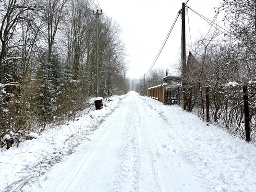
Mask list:
[{"label": "thick dark fence post nearest the camera, at far right", "polygon": [[245,140],[251,141],[251,130],[250,130],[250,116],[249,116],[249,102],[248,102],[248,87],[243,86],[244,94],[244,128],[245,128]]}]

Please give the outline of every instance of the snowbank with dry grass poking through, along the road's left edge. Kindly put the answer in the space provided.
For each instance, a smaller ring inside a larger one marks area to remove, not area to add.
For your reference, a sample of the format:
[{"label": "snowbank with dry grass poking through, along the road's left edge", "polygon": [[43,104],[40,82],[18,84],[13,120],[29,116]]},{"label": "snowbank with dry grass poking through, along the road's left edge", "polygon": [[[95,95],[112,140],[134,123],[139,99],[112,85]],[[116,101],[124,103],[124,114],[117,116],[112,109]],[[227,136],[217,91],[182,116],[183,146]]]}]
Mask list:
[{"label": "snowbank with dry grass poking through, along the road's left edge", "polygon": [[125,96],[112,96],[111,102],[105,99],[103,109],[87,108],[82,117],[47,129],[40,135],[30,133],[35,139],[21,143],[18,148],[1,149],[0,192],[19,191],[23,185],[36,181],[38,176],[50,170],[52,165],[62,161],[63,157],[74,153],[74,147],[83,140],[88,140],[88,135],[98,128]]}]

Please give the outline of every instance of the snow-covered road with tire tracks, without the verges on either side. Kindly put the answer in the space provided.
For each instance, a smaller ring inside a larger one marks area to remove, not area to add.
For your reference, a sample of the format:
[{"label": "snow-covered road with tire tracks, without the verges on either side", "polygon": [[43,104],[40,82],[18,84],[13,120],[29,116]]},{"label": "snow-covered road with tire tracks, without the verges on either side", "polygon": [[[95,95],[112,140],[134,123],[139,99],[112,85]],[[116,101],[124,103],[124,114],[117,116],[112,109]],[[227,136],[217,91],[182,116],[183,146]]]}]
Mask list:
[{"label": "snow-covered road with tire tracks, without the verges on either side", "polygon": [[[170,124],[137,94],[127,96],[91,141],[56,165],[42,192],[205,192]],[[40,189],[40,188],[39,188]]]}]

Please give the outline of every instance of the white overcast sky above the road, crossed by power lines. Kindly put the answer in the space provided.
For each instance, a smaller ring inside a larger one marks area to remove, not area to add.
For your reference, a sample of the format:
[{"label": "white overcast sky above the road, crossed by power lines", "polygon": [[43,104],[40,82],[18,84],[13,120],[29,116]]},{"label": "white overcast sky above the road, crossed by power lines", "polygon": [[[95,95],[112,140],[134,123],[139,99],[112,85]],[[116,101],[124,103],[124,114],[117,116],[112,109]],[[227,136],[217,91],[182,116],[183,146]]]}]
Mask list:
[{"label": "white overcast sky above the road, crossed by power lines", "polygon": [[[222,0],[189,0],[187,6],[212,20],[214,7],[219,7]],[[142,77],[150,68],[171,25],[186,0],[98,0],[103,14],[122,27],[121,38],[127,48],[129,70],[126,76]],[[97,0],[95,0],[97,4]],[[186,43],[191,44],[206,34],[209,25],[191,10],[186,15]],[[180,58],[181,17],[178,19],[154,68],[174,69]],[[188,50],[187,50],[188,51]],[[174,71],[174,70],[171,70]]]}]

